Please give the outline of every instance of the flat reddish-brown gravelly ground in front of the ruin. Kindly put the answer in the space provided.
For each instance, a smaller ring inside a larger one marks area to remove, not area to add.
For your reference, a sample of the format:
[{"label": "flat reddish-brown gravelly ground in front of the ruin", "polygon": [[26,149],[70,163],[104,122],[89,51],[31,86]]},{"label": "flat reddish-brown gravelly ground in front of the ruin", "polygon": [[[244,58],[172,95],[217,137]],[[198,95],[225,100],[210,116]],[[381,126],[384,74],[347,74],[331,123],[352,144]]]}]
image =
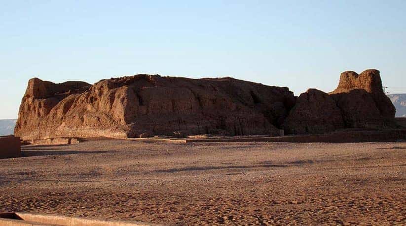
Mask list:
[{"label": "flat reddish-brown gravelly ground in front of the ruin", "polygon": [[406,142],[24,146],[0,211],[169,225],[406,224]]}]

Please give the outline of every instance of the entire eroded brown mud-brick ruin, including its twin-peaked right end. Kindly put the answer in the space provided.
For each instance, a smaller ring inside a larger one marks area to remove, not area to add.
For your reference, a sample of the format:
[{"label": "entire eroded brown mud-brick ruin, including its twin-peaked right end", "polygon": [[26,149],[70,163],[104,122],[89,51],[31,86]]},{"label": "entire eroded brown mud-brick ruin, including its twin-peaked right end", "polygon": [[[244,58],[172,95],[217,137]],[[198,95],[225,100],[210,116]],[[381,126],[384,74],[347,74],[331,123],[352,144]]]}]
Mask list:
[{"label": "entire eroded brown mud-brick ruin, including its twin-peaked right end", "polygon": [[395,108],[378,70],[341,74],[331,93],[233,78],[135,75],[55,84],[34,78],[22,99],[15,135],[23,140],[139,138],[156,135],[317,134],[391,128]]}]

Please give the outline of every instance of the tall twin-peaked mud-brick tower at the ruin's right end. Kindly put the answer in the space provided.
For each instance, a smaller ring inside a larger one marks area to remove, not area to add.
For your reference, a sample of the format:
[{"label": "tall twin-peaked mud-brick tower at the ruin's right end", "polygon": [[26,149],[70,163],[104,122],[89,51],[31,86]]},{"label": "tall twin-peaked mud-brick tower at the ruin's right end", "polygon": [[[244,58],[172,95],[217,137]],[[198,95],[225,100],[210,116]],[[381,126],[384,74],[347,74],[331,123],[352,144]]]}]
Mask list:
[{"label": "tall twin-peaked mud-brick tower at the ruin's right end", "polygon": [[395,107],[383,92],[378,70],[369,69],[360,75],[341,73],[339,85],[330,95],[341,109],[345,127],[383,128],[395,117]]}]

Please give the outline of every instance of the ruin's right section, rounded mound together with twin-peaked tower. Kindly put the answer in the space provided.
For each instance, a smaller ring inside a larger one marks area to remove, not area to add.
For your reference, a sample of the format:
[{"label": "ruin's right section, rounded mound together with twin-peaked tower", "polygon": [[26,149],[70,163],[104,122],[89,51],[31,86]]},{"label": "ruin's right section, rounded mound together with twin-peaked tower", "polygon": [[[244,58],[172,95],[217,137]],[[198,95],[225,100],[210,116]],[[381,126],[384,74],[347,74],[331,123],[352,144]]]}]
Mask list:
[{"label": "ruin's right section, rounded mound together with twin-peaked tower", "polygon": [[287,134],[315,134],[340,128],[395,128],[395,107],[382,89],[379,71],[341,73],[338,87],[327,94],[302,93],[285,121]]}]

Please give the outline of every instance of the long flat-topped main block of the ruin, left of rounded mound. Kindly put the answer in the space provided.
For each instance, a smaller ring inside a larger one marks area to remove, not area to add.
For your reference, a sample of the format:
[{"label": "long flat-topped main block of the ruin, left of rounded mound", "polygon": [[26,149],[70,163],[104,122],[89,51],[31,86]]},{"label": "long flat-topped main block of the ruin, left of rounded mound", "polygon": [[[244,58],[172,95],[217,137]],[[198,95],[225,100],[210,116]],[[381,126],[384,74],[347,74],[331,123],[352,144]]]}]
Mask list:
[{"label": "long flat-topped main block of the ruin, left of rounded mound", "polygon": [[232,78],[136,75],[94,85],[35,78],[23,97],[15,134],[24,140],[273,134],[294,104],[287,87]]}]

